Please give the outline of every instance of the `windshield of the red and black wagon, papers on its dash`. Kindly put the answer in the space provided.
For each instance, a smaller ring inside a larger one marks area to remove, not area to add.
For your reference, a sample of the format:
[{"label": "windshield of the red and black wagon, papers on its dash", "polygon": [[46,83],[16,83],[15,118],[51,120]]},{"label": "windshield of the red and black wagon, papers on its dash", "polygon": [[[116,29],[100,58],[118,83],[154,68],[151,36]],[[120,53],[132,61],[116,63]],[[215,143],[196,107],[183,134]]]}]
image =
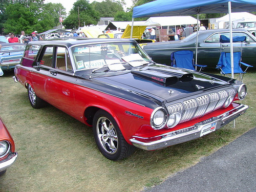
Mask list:
[{"label": "windshield of the red and black wagon, papers on its dash", "polygon": [[153,62],[136,42],[108,42],[73,47],[76,70],[106,68],[108,71],[125,70],[125,65],[139,67]]}]

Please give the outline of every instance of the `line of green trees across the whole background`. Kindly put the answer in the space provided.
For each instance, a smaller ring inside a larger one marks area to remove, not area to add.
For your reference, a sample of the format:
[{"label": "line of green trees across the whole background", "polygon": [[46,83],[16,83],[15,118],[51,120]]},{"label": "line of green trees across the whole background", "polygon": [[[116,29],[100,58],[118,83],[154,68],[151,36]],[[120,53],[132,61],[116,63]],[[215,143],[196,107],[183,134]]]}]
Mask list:
[{"label": "line of green trees across the whole background", "polygon": [[[87,0],[77,0],[69,13],[60,3],[44,3],[45,0],[0,0],[0,34],[13,32],[20,34],[25,31],[44,32],[60,25],[66,29],[74,29],[83,25],[97,25],[100,17],[114,17],[115,21],[131,21],[133,7],[154,0],[132,0],[133,6],[124,10],[125,0],[104,0],[89,3]],[[255,14],[255,12],[253,12]],[[217,18],[225,14],[200,14],[199,18]],[[192,15],[195,18],[196,15]],[[146,20],[136,18],[135,20]]]}]

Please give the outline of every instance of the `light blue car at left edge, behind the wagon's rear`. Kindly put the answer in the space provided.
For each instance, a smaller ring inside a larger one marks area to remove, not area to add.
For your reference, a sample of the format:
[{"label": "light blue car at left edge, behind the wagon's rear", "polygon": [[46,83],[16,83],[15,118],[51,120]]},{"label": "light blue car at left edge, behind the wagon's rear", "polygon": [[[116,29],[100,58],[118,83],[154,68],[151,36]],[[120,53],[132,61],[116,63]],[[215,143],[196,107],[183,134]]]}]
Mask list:
[{"label": "light blue car at left edge, behind the wagon's rear", "polygon": [[18,42],[3,43],[0,49],[0,68],[2,71],[11,71],[23,56],[25,45]]}]

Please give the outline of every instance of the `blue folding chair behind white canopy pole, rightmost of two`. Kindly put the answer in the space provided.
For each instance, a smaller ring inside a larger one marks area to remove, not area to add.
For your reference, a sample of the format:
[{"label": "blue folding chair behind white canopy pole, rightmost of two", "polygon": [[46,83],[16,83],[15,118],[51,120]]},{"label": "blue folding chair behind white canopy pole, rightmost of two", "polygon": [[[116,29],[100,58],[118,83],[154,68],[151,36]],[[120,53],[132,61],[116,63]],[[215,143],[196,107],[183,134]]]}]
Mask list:
[{"label": "blue folding chair behind white canopy pole, rightmost of two", "polygon": [[[240,81],[243,82],[243,77],[244,74],[246,73],[247,69],[249,67],[253,67],[248,65],[247,63],[242,62],[242,42],[246,40],[245,36],[236,36],[233,37],[233,42],[238,42],[241,41],[241,52],[233,52],[233,73],[234,74],[239,74],[240,76]],[[221,35],[220,36],[220,42],[221,44],[223,42],[230,42],[229,38]],[[220,54],[220,59],[218,62],[218,65],[216,67],[216,69],[221,70],[221,74],[222,75],[227,75],[228,77],[230,77],[229,74],[231,74],[231,58],[230,58],[230,53],[229,52],[221,52]],[[241,65],[245,66],[245,70],[243,71],[241,68]],[[231,77],[230,77],[231,78]]]}]

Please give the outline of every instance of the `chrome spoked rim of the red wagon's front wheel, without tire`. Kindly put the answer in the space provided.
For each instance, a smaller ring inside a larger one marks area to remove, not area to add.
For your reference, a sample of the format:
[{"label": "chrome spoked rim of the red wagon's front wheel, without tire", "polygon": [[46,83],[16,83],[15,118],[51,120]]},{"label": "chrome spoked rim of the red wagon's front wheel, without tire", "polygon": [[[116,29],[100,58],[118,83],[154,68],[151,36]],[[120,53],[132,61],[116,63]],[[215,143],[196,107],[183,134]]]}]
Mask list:
[{"label": "chrome spoked rim of the red wagon's front wheel, without tire", "polygon": [[113,123],[106,117],[100,117],[96,124],[98,140],[108,154],[115,154],[118,147],[118,137]]}]

